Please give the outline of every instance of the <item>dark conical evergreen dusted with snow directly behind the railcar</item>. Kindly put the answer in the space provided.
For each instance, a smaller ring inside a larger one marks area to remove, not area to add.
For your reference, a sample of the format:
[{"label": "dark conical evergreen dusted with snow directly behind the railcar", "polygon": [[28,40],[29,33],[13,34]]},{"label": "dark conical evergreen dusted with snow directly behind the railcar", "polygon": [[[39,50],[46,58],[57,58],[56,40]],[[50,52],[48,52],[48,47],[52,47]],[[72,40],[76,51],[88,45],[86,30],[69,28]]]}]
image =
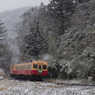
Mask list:
[{"label": "dark conical evergreen dusted with snow directly behind the railcar", "polygon": [[25,36],[25,46],[22,49],[23,53],[38,56],[46,48],[45,40],[40,34],[40,30],[38,22],[36,23],[36,27],[31,27],[29,34]]}]

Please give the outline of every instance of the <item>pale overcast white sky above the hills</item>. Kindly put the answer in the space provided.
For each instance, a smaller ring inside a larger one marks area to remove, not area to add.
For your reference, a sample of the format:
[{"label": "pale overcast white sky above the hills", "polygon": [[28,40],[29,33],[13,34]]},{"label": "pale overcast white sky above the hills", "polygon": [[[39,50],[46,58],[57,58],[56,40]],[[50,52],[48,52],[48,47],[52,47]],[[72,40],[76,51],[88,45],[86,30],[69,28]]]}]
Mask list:
[{"label": "pale overcast white sky above the hills", "polygon": [[39,6],[41,2],[46,5],[49,3],[49,0],[0,0],[0,12],[25,6]]}]

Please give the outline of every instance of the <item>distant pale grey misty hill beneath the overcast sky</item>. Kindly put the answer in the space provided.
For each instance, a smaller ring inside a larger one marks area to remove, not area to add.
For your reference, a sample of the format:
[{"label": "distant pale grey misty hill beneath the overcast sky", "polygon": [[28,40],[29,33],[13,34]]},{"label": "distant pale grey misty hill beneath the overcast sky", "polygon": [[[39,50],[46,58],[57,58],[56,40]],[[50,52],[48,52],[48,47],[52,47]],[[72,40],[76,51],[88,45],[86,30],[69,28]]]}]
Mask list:
[{"label": "distant pale grey misty hill beneath the overcast sky", "polygon": [[15,33],[15,24],[19,22],[20,16],[29,10],[30,7],[18,8],[10,11],[5,11],[0,14],[0,19],[4,23],[4,27],[7,29],[7,36],[9,38],[15,38],[17,34]]}]

